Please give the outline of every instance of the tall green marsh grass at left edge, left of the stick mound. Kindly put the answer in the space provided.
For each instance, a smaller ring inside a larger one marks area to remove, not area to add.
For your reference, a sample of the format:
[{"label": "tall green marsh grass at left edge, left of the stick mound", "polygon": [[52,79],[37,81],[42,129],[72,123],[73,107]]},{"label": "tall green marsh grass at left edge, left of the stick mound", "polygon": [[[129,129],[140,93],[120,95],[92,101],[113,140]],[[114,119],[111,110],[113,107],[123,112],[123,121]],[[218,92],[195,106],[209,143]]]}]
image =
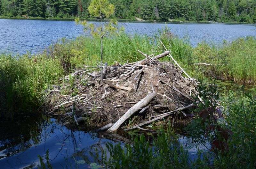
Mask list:
[{"label": "tall green marsh grass at left edge, left of the stick mound", "polygon": [[[35,113],[43,91],[63,75],[58,59],[42,55],[0,56],[1,109],[9,117]],[[17,114],[17,112],[19,112]]]}]

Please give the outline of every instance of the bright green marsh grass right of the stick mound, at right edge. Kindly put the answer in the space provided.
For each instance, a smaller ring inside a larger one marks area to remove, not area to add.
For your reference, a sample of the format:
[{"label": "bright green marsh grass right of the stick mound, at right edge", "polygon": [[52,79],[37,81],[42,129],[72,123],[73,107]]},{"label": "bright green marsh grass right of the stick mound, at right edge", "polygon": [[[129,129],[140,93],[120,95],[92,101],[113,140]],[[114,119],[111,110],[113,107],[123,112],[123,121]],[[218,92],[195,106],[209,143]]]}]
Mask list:
[{"label": "bright green marsh grass right of the stick mound, at right edge", "polygon": [[193,50],[194,62],[216,66],[197,66],[208,77],[232,80],[238,83],[256,83],[256,39],[240,38],[222,47],[199,44]]}]

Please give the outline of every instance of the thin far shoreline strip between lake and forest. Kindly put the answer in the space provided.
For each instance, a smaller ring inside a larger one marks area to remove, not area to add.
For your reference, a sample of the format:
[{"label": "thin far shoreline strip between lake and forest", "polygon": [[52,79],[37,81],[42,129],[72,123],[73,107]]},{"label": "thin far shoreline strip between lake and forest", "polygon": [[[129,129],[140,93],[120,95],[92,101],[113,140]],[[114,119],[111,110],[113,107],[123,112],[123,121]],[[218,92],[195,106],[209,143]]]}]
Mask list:
[{"label": "thin far shoreline strip between lake and forest", "polygon": [[[21,20],[49,20],[49,21],[74,21],[75,18],[9,18],[2,17],[0,19],[21,19]],[[81,18],[82,20],[87,21],[98,21],[97,19],[92,18]],[[230,25],[253,25],[256,26],[256,23],[246,23],[246,22],[213,22],[213,21],[179,21],[174,20],[170,21],[153,21],[153,20],[129,20],[129,19],[117,19],[118,22],[133,22],[133,23],[166,23],[166,24],[230,24]]]}]

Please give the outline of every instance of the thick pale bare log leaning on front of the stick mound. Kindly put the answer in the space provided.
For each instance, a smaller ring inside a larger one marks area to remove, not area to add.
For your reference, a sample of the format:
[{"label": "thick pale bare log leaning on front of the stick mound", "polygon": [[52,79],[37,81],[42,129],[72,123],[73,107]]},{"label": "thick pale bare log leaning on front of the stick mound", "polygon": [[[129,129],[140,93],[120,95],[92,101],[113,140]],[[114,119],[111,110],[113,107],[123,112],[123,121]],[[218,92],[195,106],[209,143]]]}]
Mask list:
[{"label": "thick pale bare log leaning on front of the stick mound", "polygon": [[110,129],[108,129],[108,132],[116,131],[124,123],[124,121],[130,118],[132,114],[137,112],[140,108],[147,106],[148,103],[151,102],[151,100],[154,99],[157,95],[158,94],[156,93],[151,93],[148,94],[144,99],[140,100],[137,104],[131,107],[118,121],[116,121],[116,123]]}]

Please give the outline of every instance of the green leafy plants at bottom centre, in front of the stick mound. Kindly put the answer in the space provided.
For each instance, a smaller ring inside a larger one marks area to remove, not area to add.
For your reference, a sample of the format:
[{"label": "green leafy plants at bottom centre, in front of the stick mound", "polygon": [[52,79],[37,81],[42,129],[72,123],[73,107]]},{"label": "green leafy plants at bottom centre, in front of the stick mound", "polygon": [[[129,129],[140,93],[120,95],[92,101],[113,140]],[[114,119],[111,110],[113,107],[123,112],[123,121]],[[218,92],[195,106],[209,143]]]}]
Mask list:
[{"label": "green leafy plants at bottom centre, in front of the stick mound", "polygon": [[208,168],[208,159],[200,160],[200,153],[195,161],[189,159],[171,128],[166,132],[162,128],[152,145],[142,134],[132,145],[107,143],[106,147],[102,155],[104,168]]}]

